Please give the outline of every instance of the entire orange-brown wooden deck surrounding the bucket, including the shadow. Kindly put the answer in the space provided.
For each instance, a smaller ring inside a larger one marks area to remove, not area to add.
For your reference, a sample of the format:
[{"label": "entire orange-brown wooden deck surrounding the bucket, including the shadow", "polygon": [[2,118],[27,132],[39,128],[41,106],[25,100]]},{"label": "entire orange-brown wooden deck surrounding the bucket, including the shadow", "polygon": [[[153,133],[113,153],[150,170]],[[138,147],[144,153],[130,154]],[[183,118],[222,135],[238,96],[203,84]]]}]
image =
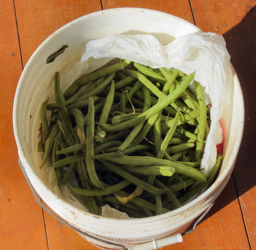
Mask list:
[{"label": "entire orange-brown wooden deck surrounding the bucket, including the shadow", "polygon": [[255,0],[0,0],[0,249],[97,249],[36,203],[18,165],[12,106],[23,67],[52,32],[116,7],[167,12],[223,35],[244,95],[244,135],[227,186],[183,243],[163,249],[256,249]]}]

